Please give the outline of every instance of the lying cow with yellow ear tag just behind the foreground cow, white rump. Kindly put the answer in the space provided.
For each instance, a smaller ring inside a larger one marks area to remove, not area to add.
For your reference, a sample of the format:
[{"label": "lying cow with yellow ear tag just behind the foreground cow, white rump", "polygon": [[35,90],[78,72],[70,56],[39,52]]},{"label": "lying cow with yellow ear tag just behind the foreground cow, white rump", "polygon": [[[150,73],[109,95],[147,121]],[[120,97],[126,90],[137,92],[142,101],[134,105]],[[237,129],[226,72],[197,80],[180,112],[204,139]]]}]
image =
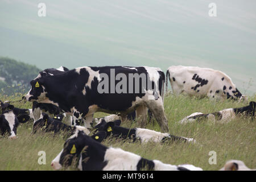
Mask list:
[{"label": "lying cow with yellow ear tag just behind the foreground cow, white rump", "polygon": [[193,142],[195,143],[195,139],[193,138],[185,138],[185,137],[176,137],[174,135],[168,133],[160,133],[154,130],[134,128],[128,129],[125,127],[119,126],[121,123],[120,120],[116,120],[114,122],[106,122],[104,120],[101,121],[96,128],[98,131],[106,131],[106,137],[113,135],[114,137],[121,137],[123,139],[133,139],[141,140],[142,143],[147,143],[149,141],[152,142],[168,142],[168,141],[184,141],[184,142]]}]

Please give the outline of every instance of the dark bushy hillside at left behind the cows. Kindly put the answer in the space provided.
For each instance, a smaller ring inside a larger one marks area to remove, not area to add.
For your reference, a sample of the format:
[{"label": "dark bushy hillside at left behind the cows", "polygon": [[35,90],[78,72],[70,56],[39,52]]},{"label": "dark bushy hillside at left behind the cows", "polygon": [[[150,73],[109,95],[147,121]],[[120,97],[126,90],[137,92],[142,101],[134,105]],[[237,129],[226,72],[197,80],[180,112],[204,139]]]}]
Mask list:
[{"label": "dark bushy hillside at left behind the cows", "polygon": [[0,89],[2,94],[25,93],[30,89],[30,81],[40,69],[9,57],[0,57]]}]

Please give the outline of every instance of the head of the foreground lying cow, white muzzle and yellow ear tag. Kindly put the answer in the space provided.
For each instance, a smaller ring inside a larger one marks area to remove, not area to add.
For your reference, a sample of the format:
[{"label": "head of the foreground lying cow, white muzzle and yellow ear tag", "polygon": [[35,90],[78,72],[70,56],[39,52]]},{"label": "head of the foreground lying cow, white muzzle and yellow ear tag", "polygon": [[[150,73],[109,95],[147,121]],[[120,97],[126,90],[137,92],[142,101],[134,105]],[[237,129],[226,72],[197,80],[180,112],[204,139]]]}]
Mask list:
[{"label": "head of the foreground lying cow, white muzzle and yellow ear tag", "polygon": [[77,164],[81,152],[86,150],[86,146],[92,143],[92,139],[101,142],[105,137],[106,133],[104,131],[98,132],[91,137],[82,131],[77,131],[74,135],[66,140],[63,150],[61,150],[59,155],[52,160],[52,168],[59,170],[62,167],[71,166],[73,162]]}]

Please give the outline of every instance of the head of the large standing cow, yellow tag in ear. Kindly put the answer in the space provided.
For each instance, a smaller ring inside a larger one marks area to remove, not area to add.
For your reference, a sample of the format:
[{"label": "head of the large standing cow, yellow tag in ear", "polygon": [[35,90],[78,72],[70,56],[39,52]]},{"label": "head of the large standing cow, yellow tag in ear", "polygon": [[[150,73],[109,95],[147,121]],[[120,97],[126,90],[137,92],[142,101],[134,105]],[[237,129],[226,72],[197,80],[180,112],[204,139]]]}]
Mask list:
[{"label": "head of the large standing cow, yellow tag in ear", "polygon": [[39,77],[30,82],[31,89],[27,93],[27,101],[40,101],[46,98],[46,88],[44,87],[44,78]]}]

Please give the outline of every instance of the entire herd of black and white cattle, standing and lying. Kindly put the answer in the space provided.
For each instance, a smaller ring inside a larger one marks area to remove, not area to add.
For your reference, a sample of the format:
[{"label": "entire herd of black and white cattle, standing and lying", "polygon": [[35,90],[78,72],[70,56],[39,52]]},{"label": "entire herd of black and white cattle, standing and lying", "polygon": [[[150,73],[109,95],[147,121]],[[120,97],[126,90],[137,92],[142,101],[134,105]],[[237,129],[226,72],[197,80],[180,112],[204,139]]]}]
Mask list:
[{"label": "entire herd of black and white cattle, standing and lying", "polygon": [[[111,135],[142,143],[176,140],[196,144],[193,138],[177,137],[169,133],[163,106],[164,86],[167,91],[168,80],[175,94],[246,100],[246,96],[238,91],[229,76],[209,68],[172,66],[167,69],[166,77],[161,69],[152,67],[50,68],[40,72],[31,81],[30,91],[22,98],[32,102],[32,109],[19,109],[9,102],[1,101],[1,135],[8,134],[9,138],[15,138],[19,123],[29,119],[34,119],[32,133],[40,130],[57,135],[65,131],[68,139],[60,154],[52,160],[53,169],[70,166],[72,160],[76,159],[77,168],[81,170],[203,170],[191,164],[174,166],[159,160],[144,159],[121,148],[106,147],[100,143]],[[115,90],[118,84],[122,92]],[[99,88],[104,92],[99,92]],[[229,122],[241,116],[254,118],[255,107],[256,102],[251,101],[249,105],[240,108],[209,114],[193,113],[179,123],[205,119]],[[93,118],[93,114],[98,111],[112,115]],[[54,116],[51,118],[49,115]],[[148,115],[155,118],[162,133],[144,129]],[[121,121],[135,118],[139,128],[120,126]],[[81,126],[82,123],[84,126]],[[241,169],[249,168],[241,161],[232,160],[221,170]]]}]

